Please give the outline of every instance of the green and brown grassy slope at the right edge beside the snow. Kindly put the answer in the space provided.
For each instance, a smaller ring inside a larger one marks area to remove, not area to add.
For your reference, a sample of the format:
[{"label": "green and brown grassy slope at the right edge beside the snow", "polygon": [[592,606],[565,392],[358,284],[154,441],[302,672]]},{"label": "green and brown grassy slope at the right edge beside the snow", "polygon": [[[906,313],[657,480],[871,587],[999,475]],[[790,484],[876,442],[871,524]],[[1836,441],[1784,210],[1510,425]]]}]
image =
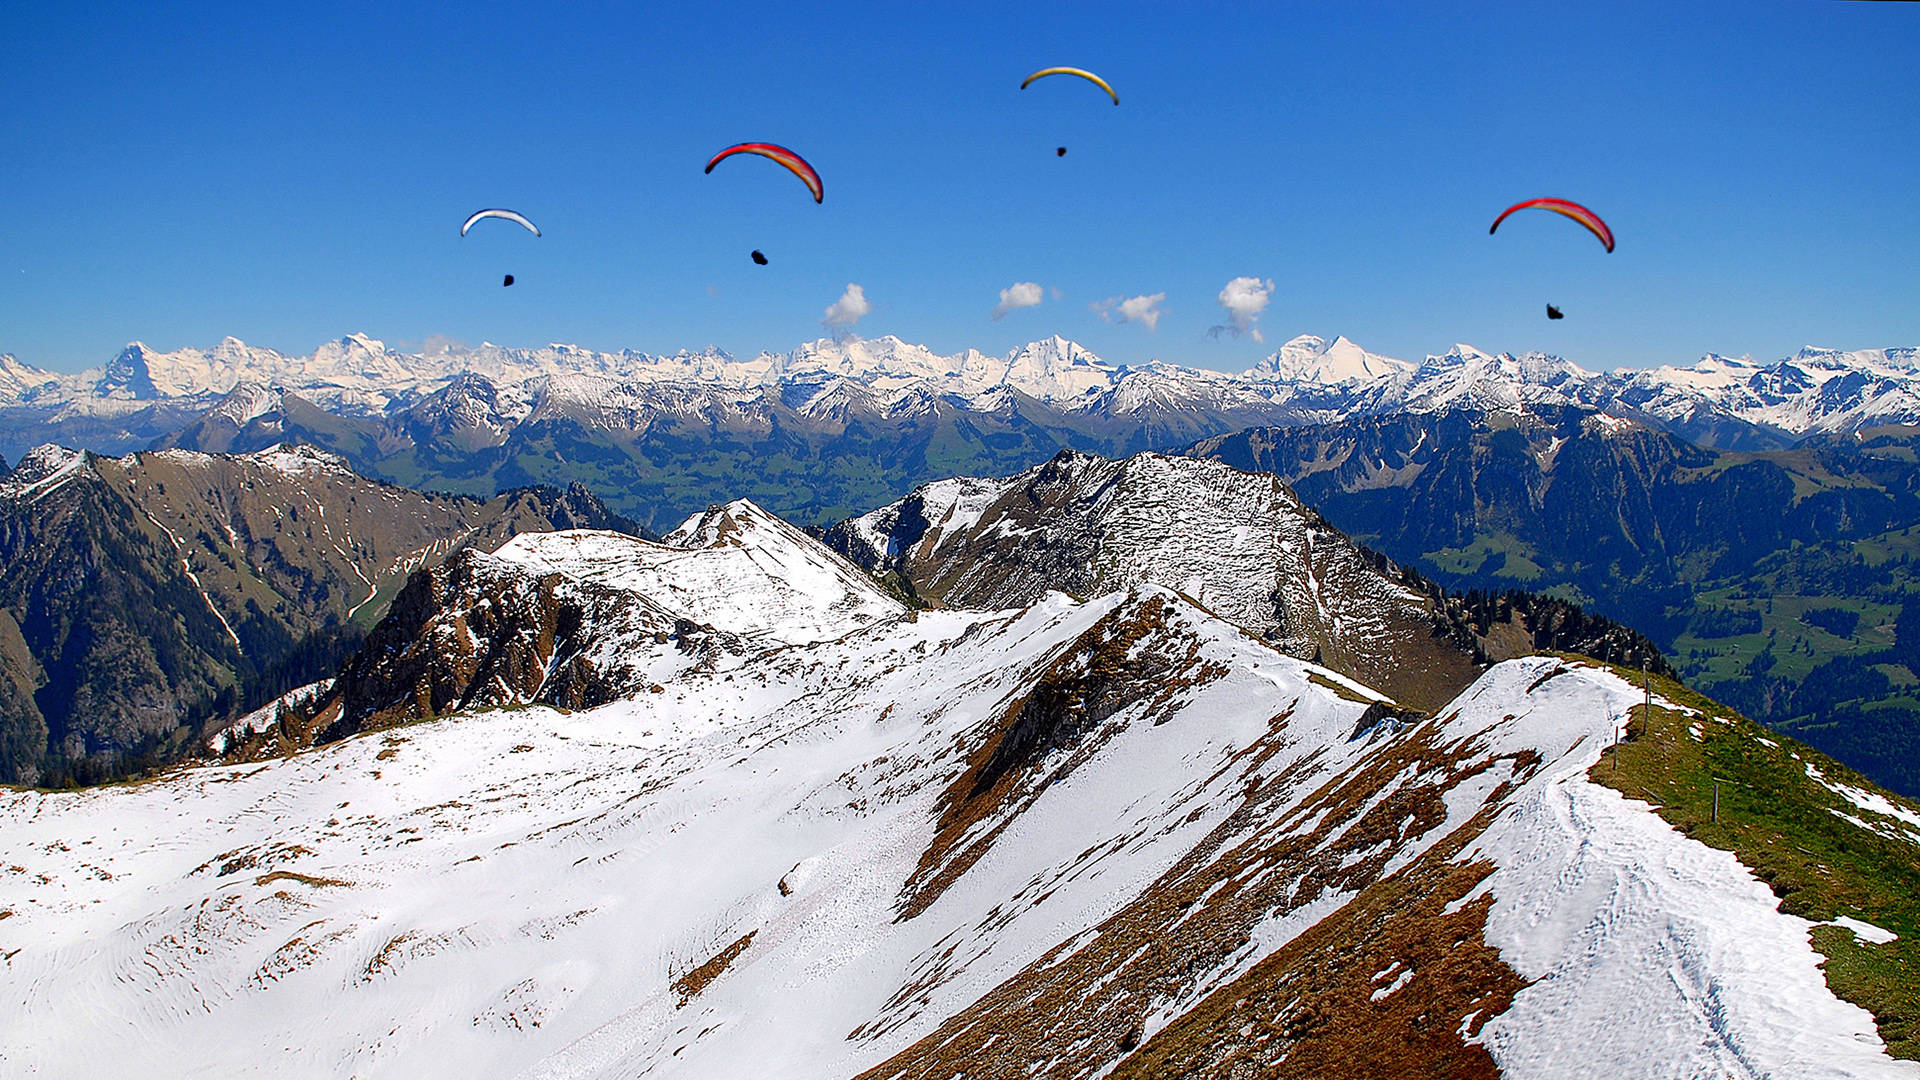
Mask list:
[{"label": "green and brown grassy slope at the right edge beside the snow", "polygon": [[[1638,673],[1620,675],[1638,680]],[[1849,930],[1816,926],[1812,944],[1828,957],[1834,992],[1874,1013],[1895,1057],[1920,1059],[1920,826],[1862,809],[1816,780],[1809,767],[1830,784],[1874,790],[1824,753],[1676,682],[1655,678],[1653,694],[1682,709],[1655,705],[1647,715],[1636,707],[1626,742],[1601,757],[1592,780],[1651,801],[1674,828],[1732,851],[1772,886],[1782,911],[1816,922],[1845,915],[1899,934],[1870,945]],[[1715,778],[1722,780],[1718,821]]]}]

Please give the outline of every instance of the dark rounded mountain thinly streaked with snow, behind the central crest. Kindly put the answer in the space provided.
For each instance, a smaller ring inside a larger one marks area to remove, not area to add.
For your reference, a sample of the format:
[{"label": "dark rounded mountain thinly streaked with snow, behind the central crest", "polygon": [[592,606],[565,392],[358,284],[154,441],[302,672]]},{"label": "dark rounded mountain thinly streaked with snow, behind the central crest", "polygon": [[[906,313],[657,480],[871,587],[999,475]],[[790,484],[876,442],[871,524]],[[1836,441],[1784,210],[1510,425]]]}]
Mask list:
[{"label": "dark rounded mountain thinly streaked with snow, behind the central crest", "polygon": [[1213,461],[1060,454],[1002,480],[943,480],[828,530],[920,598],[1020,607],[1050,590],[1179,590],[1273,648],[1417,707],[1478,673],[1473,638],[1275,477]]}]

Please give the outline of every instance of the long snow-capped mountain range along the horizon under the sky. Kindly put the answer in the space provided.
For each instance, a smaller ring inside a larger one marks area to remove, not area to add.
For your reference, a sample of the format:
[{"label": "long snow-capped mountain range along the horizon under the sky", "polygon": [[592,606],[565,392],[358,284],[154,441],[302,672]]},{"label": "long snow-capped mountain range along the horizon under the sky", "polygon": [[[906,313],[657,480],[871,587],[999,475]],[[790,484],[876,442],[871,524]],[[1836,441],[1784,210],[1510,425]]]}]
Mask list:
[{"label": "long snow-capped mountain range along the horizon under the sky", "polygon": [[1212,409],[1260,413],[1265,423],[1452,407],[1584,405],[1690,436],[1738,421],[1753,429],[1751,438],[1763,440],[1920,423],[1916,348],[1803,348],[1774,363],[1707,356],[1690,367],[1594,373],[1546,354],[1486,354],[1455,344],[1409,363],[1371,354],[1344,336],[1298,336],[1240,375],[1158,361],[1116,365],[1060,336],[1006,356],[977,350],[943,356],[895,336],[820,338],[751,359],[712,348],[655,356],[570,344],[403,352],[367,334],[349,334],[294,357],[227,338],[207,350],[175,352],[134,342],[104,367],[77,375],[0,356],[0,407],[67,417],[192,402],[244,425],[275,407],[276,392],[298,394],[338,415],[394,415],[455,382],[484,388],[488,419],[507,425],[532,415],[543,400],[601,400],[636,384],[718,390],[741,402],[806,388],[789,404],[833,409],[858,402],[881,415],[924,407],[929,396],[995,409],[1004,405],[1006,392],[1018,392],[1073,413],[1148,417],[1156,407]]}]

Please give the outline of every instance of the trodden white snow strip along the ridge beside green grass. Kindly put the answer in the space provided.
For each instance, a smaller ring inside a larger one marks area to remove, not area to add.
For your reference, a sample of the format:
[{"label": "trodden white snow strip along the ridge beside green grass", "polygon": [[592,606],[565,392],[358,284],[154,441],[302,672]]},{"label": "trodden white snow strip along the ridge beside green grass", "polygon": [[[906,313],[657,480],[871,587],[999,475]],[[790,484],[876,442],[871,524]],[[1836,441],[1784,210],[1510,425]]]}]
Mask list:
[{"label": "trodden white snow strip along the ridge beside green grass", "polygon": [[[1490,671],[1463,696],[1503,701],[1548,659]],[[1486,938],[1530,984],[1486,1020],[1503,1076],[1907,1076],[1872,1017],[1826,986],[1809,922],[1728,851],[1688,840],[1586,780],[1607,717],[1638,690],[1594,669],[1553,678],[1496,738],[1565,744],[1461,859],[1500,869]]]}]

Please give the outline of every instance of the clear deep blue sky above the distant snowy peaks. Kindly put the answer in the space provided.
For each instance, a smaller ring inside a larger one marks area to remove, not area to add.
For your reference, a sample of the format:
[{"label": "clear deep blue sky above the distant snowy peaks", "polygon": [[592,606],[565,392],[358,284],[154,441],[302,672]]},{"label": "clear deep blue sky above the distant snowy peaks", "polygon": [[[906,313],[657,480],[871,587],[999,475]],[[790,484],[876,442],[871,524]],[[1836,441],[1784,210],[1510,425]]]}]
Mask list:
[{"label": "clear deep blue sky above the distant snowy peaks", "polygon": [[[847,282],[862,336],[1235,371],[1296,332],[1596,369],[1920,344],[1920,4],[916,8],[10,0],[0,352],[753,354]],[[1056,63],[1121,106],[1020,90]],[[826,204],[764,160],[701,173],[741,140]],[[1546,194],[1619,250],[1540,211],[1486,234]],[[463,240],[484,206],[545,236]],[[1242,275],[1265,344],[1208,338]],[[991,319],[1014,282],[1060,298]],[[1156,292],[1152,332],[1089,309]]]}]

